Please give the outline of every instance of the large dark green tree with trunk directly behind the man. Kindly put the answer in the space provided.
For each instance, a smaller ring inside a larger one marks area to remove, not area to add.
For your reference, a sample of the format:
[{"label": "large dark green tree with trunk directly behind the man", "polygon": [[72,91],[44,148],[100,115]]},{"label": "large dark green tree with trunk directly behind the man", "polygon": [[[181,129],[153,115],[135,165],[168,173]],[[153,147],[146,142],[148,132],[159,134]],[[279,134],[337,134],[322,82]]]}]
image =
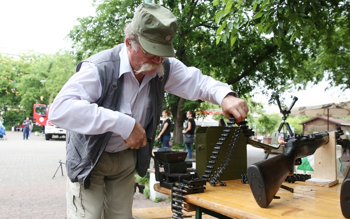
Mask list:
[{"label": "large dark green tree with trunk directly behind the man", "polygon": [[[265,1],[259,2],[264,3]],[[225,4],[229,4],[229,2],[233,1],[225,0]],[[288,5],[288,8],[287,6],[283,7],[284,11],[279,12],[277,1],[275,6],[272,5],[274,3],[272,1],[268,1],[268,4],[264,3],[263,6],[260,6],[258,1],[256,2],[257,4],[254,6],[255,3],[252,4],[252,1],[237,1],[239,12],[244,16],[239,17],[238,20],[235,17],[227,16],[227,20],[231,20],[231,23],[227,22],[224,17],[217,19],[216,22],[218,20],[222,22],[220,25],[225,21],[227,23],[228,29],[224,31],[223,28],[221,32],[217,31],[215,17],[220,10],[224,10],[224,6],[212,7],[210,2],[205,0],[159,1],[159,4],[169,8],[177,18],[177,37],[173,42],[176,58],[188,66],[199,68],[204,74],[231,85],[232,90],[237,91],[240,96],[249,95],[249,92],[257,87],[262,88],[263,92],[272,90],[280,93],[291,88],[293,84],[298,85],[298,89],[302,89],[308,81],[321,80],[323,71],[319,70],[319,64],[313,61],[320,48],[313,49],[315,40],[312,38],[309,41],[300,41],[296,38],[299,39],[298,31],[301,31],[301,25],[305,27],[302,29],[303,32],[307,32],[307,26],[313,26],[312,21],[308,20],[309,17],[302,15],[302,7],[310,13],[318,12],[316,9],[323,10],[323,8],[316,5],[318,8],[314,9],[311,5],[313,8],[311,9],[307,2],[296,7],[297,3],[292,4],[287,1],[285,4]],[[127,20],[133,18],[134,9],[140,3],[141,0],[103,0],[99,3],[95,1],[96,15],[78,18],[80,24],[74,26],[68,36],[74,44],[73,48],[78,60],[123,42],[123,26]],[[265,5],[266,7],[263,8]],[[259,11],[267,10],[267,7],[270,7],[269,10],[277,12],[267,13],[268,15],[265,15],[265,12],[263,15],[260,13],[259,18],[251,19],[248,16],[251,7],[255,7]],[[296,8],[298,11],[293,11]],[[287,10],[289,10],[288,13]],[[229,11],[231,12],[231,9]],[[281,13],[284,13],[283,16],[288,14],[289,20],[283,19]],[[322,13],[326,14],[323,11]],[[290,16],[291,14],[293,15]],[[294,16],[295,22],[292,22],[294,24],[289,25],[289,21],[293,20]],[[235,20],[239,25],[232,23],[232,20]],[[267,22],[271,22],[269,25],[272,28],[266,28]],[[276,22],[278,26],[276,26]],[[256,26],[258,23],[262,26]],[[326,21],[324,23],[327,24]],[[254,26],[256,26],[255,29]],[[275,33],[272,29],[278,29],[282,26],[280,32],[276,32],[280,39],[261,35],[261,33],[266,34],[270,31]],[[285,28],[295,30],[293,32],[295,37],[292,41],[290,39],[293,38],[293,33],[286,33]],[[228,36],[227,33],[230,30],[237,32],[236,34],[239,36],[236,39],[237,43],[233,44],[234,47],[231,47],[230,43],[217,44],[216,33],[222,35],[221,40],[225,41],[223,34]],[[312,33],[315,32],[310,32],[310,36]],[[283,36],[284,38],[282,38]],[[181,130],[185,120],[185,112],[200,107],[201,101],[188,103],[187,100],[171,94],[167,95],[166,100],[168,102],[164,104],[164,107],[171,110],[175,120],[175,141],[182,142]]]}]

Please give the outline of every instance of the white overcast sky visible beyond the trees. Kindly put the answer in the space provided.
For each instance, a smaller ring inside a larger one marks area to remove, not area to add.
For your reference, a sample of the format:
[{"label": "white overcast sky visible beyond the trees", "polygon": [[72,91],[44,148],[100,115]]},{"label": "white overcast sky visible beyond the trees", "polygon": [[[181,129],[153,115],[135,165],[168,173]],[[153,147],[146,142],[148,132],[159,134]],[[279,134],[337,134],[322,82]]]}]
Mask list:
[{"label": "white overcast sky visible beyond the trees", "polygon": [[[93,0],[0,0],[0,49],[9,48],[26,52],[54,54],[60,49],[70,49],[65,39],[77,18],[93,16]],[[285,104],[292,102],[291,95],[299,99],[315,95],[333,95],[350,99],[350,89],[325,89],[330,82],[309,85],[306,91],[280,94]],[[257,90],[255,101],[267,103],[267,97]],[[296,103],[297,105],[297,103]]]}]

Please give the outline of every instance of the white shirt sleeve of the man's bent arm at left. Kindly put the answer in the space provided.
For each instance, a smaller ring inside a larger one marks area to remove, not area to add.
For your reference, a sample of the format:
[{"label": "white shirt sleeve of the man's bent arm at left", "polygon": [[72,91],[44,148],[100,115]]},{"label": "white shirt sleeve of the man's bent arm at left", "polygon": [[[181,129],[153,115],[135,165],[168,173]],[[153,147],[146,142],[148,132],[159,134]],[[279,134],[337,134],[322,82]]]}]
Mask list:
[{"label": "white shirt sleeve of the man's bent arm at left", "polygon": [[135,119],[99,107],[102,93],[100,77],[94,64],[84,62],[55,97],[49,110],[49,120],[58,127],[81,134],[102,134],[112,131],[127,139]]}]

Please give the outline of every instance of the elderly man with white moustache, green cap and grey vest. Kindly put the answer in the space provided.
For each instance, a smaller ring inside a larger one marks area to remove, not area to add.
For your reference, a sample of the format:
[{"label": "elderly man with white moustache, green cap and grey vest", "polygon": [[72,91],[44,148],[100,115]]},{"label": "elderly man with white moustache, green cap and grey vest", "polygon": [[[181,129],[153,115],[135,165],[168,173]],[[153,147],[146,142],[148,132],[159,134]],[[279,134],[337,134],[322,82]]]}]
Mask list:
[{"label": "elderly man with white moustache, green cap and grey vest", "polygon": [[67,133],[68,219],[131,219],[135,170],[150,162],[164,91],[221,105],[245,119],[237,93],[177,59],[175,16],[142,3],[123,44],[80,62],[56,96],[49,119]]}]

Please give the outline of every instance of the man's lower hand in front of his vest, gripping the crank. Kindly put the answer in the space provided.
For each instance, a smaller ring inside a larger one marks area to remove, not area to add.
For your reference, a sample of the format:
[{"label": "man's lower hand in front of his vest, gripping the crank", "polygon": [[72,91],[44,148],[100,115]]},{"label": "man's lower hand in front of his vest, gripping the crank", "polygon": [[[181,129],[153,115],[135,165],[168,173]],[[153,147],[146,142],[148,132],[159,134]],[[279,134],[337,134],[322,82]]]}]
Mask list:
[{"label": "man's lower hand in front of his vest, gripping the crank", "polygon": [[139,149],[147,145],[146,131],[142,128],[140,123],[135,122],[135,126],[130,136],[124,140],[125,146],[131,149]]}]

